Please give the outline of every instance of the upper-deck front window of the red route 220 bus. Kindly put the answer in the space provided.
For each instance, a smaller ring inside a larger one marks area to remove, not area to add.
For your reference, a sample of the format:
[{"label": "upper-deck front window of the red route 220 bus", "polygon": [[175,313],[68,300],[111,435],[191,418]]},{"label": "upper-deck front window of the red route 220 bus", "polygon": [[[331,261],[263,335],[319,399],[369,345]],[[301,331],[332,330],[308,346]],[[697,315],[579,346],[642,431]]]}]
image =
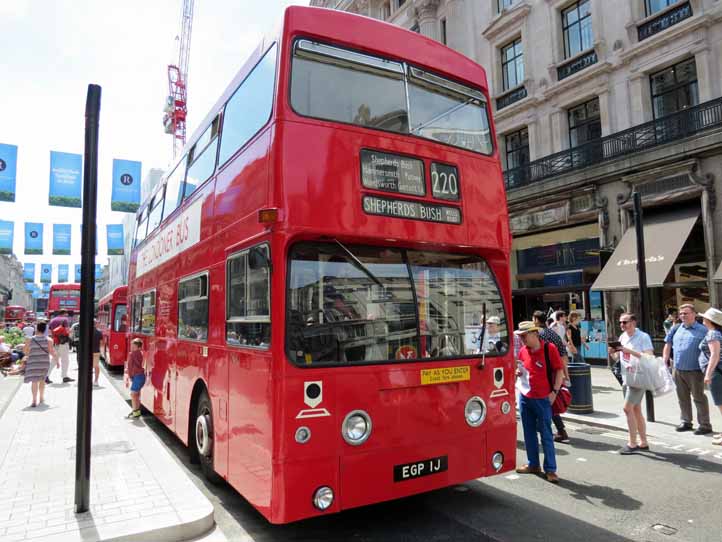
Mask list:
[{"label": "upper-deck front window of the red route 220 bus", "polygon": [[493,151],[480,91],[400,62],[310,40],[294,47],[291,104],[308,117]]}]

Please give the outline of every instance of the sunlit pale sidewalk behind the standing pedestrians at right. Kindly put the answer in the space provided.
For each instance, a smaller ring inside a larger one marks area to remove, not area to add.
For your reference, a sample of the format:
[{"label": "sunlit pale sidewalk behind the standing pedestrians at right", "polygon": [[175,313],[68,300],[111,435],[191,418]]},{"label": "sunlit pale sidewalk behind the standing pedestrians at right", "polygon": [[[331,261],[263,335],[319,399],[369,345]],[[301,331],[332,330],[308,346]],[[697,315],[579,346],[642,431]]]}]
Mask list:
[{"label": "sunlit pale sidewalk behind the standing pedestrians at right", "polygon": [[[607,429],[621,429],[627,431],[627,418],[622,411],[624,397],[622,387],[606,367],[592,366],[592,395],[594,401],[594,412],[592,414],[572,414],[567,412],[564,420],[594,425]],[[710,418],[715,432],[722,432],[722,416],[717,407],[712,403],[712,397],[707,392],[710,406]],[[693,405],[693,412],[697,415]],[[642,412],[646,415],[645,400],[642,400]],[[647,423],[647,433],[650,437],[657,439],[684,440],[697,446],[703,446],[714,452],[722,452],[720,446],[711,444],[711,435],[697,436],[691,432],[678,433],[675,427],[679,422],[679,404],[675,393],[667,394],[654,399],[655,422]],[[696,427],[695,418],[695,427]]]}]

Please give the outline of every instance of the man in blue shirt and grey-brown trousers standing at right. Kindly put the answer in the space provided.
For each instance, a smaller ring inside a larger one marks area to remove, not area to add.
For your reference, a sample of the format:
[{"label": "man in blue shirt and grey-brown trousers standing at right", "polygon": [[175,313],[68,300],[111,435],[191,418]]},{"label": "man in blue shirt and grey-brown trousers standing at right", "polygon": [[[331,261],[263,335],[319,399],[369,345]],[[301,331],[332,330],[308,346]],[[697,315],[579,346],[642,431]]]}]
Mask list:
[{"label": "man in blue shirt and grey-brown trousers standing at right", "polygon": [[707,435],[712,432],[712,424],[709,419],[709,403],[704,394],[704,373],[699,367],[699,343],[707,334],[707,328],[695,320],[697,314],[693,305],[680,306],[679,316],[682,323],[667,333],[662,354],[665,363],[669,365],[670,355],[674,352],[674,383],[677,385],[682,420],[677,431],[692,430],[691,394],[699,423],[694,434]]}]

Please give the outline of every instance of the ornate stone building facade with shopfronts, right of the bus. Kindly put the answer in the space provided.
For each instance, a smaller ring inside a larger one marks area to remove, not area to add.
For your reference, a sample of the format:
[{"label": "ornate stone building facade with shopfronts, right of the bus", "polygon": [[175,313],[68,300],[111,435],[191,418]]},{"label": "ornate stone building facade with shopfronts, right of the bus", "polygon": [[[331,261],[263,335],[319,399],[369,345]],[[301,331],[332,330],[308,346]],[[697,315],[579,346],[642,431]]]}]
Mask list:
[{"label": "ornate stone building facade with shopfronts, right of the bus", "polygon": [[658,344],[667,307],[722,303],[722,2],[311,5],[420,32],[485,67],[514,234],[516,321],[537,308],[575,309],[590,335],[619,333],[618,314],[639,310],[635,190]]}]

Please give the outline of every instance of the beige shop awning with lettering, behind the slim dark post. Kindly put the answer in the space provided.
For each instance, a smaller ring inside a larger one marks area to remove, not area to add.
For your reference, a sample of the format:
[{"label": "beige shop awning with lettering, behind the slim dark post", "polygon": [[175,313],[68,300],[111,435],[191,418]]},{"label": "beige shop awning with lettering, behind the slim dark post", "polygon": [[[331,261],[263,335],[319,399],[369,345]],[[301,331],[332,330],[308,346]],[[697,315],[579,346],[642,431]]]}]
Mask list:
[{"label": "beige shop awning with lettering, behind the slim dark post", "polygon": [[[682,251],[699,208],[684,208],[661,213],[644,220],[644,251],[647,261],[647,286],[659,287]],[[629,228],[614,249],[612,257],[592,285],[592,290],[634,290],[639,288],[637,275],[637,238]]]}]

